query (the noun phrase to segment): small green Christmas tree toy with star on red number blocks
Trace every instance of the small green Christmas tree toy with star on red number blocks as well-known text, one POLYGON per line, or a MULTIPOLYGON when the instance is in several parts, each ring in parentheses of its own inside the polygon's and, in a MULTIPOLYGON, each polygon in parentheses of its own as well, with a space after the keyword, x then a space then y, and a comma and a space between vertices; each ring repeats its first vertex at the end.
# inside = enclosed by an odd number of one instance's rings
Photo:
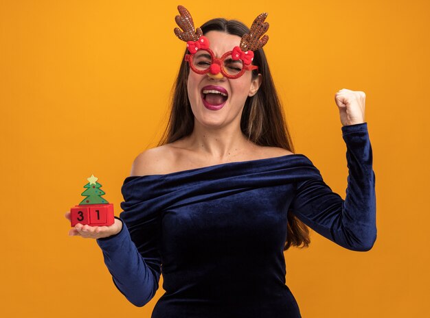
POLYGON ((85 191, 81 195, 85 197, 78 206, 70 209, 70 223, 75 226, 78 223, 90 226, 112 225, 113 204, 110 204, 102 197, 104 191, 100 189, 102 184, 98 183, 98 178, 91 175, 87 178, 88 183, 84 185, 85 191))

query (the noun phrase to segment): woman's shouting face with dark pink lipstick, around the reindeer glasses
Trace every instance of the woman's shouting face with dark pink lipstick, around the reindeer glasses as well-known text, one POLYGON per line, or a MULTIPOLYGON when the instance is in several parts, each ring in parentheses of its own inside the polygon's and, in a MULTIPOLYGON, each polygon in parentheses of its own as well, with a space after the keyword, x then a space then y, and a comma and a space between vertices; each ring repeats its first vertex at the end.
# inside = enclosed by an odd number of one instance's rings
MULTIPOLYGON (((240 36, 225 32, 210 31, 205 37, 217 58, 240 45, 240 36)), ((207 74, 194 73, 190 69, 187 88, 195 120, 206 127, 223 127, 230 123, 240 125, 245 101, 248 96, 257 93, 260 82, 261 75, 252 79, 251 71, 245 71, 237 79, 214 79, 207 74)))

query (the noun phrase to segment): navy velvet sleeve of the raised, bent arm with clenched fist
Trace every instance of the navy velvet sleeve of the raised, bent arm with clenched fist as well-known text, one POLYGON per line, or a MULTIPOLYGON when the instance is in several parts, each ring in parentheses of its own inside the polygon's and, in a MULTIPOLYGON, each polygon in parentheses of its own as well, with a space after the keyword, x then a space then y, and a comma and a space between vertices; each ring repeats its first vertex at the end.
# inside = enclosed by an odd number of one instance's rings
POLYGON ((319 178, 297 182, 292 212, 310 228, 354 251, 368 251, 376 241, 375 174, 367 123, 342 128, 346 143, 346 198, 319 178))

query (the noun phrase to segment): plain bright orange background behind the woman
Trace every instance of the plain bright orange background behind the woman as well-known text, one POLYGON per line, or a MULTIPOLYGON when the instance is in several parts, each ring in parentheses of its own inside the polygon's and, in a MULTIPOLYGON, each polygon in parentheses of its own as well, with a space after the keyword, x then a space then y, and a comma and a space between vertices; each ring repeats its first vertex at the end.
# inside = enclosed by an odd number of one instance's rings
MULTIPOLYGON (((7 317, 149 317, 95 241, 63 214, 98 176, 120 213, 139 152, 155 147, 185 43, 177 1, 1 1, 0 308, 7 317)), ((303 317, 425 317, 429 308, 429 1, 185 1, 196 25, 269 12, 264 48, 297 153, 345 195, 334 96, 367 94, 378 238, 352 252, 312 232, 285 253, 303 317)), ((161 282, 162 284, 162 279, 161 282)), ((5 316, 5 317, 6 317, 5 316)))

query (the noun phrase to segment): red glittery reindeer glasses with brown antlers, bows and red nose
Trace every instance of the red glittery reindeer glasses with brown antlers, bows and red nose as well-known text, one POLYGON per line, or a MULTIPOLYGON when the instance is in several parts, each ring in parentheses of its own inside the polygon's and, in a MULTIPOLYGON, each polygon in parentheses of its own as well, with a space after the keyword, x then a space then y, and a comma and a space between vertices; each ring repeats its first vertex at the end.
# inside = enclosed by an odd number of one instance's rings
POLYGON ((235 79, 242 76, 245 71, 258 69, 258 66, 252 65, 254 53, 263 47, 269 36, 264 35, 269 29, 269 23, 264 22, 267 13, 262 13, 253 21, 249 34, 242 36, 240 46, 234 47, 233 51, 228 51, 220 58, 216 58, 214 52, 209 48, 209 40, 203 36, 200 27, 194 29, 194 23, 190 12, 182 5, 178 6, 179 13, 175 17, 177 25, 181 27, 174 28, 174 34, 187 42, 190 54, 185 55, 185 61, 188 62, 192 71, 197 74, 207 74, 213 78, 227 77, 235 79))

